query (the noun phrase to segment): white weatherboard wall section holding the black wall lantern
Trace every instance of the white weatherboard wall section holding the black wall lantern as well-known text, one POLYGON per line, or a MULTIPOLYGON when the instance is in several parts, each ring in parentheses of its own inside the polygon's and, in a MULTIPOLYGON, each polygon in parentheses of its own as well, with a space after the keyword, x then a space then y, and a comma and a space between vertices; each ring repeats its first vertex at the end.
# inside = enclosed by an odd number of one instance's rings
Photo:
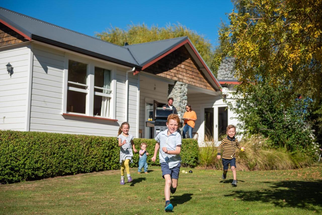
POLYGON ((26 130, 30 48, 0 49, 0 129, 26 130), (10 77, 6 64, 14 67, 10 77))

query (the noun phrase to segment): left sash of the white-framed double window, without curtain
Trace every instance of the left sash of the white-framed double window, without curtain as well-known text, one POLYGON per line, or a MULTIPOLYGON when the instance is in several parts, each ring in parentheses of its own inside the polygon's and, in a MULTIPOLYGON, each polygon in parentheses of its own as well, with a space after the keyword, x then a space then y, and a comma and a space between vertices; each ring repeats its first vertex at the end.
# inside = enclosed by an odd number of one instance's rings
POLYGON ((87 64, 68 62, 67 112, 86 113, 87 64))

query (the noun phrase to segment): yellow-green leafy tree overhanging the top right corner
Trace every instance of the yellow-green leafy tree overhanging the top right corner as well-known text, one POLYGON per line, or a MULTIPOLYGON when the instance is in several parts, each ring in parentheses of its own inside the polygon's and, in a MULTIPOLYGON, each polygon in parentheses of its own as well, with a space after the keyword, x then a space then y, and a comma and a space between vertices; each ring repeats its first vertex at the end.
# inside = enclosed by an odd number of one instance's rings
POLYGON ((236 0, 238 13, 220 30, 222 53, 214 55, 218 67, 224 57, 236 58, 233 73, 241 82, 237 91, 252 93, 256 80, 275 89, 290 85, 281 101, 295 92, 322 98, 322 0, 236 0), (227 42, 228 41, 228 42, 227 42))

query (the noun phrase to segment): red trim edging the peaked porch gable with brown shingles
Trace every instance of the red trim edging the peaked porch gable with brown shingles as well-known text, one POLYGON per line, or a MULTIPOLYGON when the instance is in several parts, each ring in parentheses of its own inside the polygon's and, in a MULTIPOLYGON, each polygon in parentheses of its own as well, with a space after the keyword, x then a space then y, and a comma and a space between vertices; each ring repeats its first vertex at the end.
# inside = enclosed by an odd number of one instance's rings
MULTIPOLYGON (((144 70, 145 68, 147 68, 148 66, 156 63, 158 60, 162 59, 163 57, 165 57, 166 55, 170 54, 171 52, 175 51, 176 49, 180 48, 181 46, 183 46, 184 44, 189 44, 191 49, 194 51, 194 53, 196 54, 196 56, 198 57, 199 61, 203 64, 204 68, 207 70, 208 74, 210 75, 210 77, 213 79, 213 81, 216 83, 217 87, 219 88, 220 91, 222 91, 220 84, 218 83, 218 81, 213 77, 213 73, 208 69, 207 65, 204 63, 204 61, 202 60, 201 56, 198 54, 197 50, 194 49, 194 46, 190 43, 190 41, 188 39, 186 39, 185 41, 181 42, 180 44, 176 45, 175 47, 173 47, 172 49, 170 49, 169 51, 167 51, 166 53, 160 55, 159 57, 155 58, 154 60, 150 61, 149 63, 145 64, 144 66, 142 66, 141 70, 144 70)), ((139 71, 135 71, 133 74, 137 74, 139 71)))

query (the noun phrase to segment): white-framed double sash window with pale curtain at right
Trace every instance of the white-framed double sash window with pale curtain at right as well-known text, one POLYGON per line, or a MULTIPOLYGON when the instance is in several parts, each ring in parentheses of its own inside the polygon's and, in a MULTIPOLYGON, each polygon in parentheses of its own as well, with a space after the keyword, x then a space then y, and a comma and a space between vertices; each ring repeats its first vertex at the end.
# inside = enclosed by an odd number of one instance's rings
POLYGON ((69 60, 66 112, 111 117, 111 79, 110 70, 100 67, 94 68, 89 64, 69 60), (90 68, 93 68, 94 71, 89 71, 90 68), (93 83, 89 81, 92 78, 94 78, 94 85, 90 85, 93 83), (89 111, 90 109, 93 110, 92 113, 89 111))

